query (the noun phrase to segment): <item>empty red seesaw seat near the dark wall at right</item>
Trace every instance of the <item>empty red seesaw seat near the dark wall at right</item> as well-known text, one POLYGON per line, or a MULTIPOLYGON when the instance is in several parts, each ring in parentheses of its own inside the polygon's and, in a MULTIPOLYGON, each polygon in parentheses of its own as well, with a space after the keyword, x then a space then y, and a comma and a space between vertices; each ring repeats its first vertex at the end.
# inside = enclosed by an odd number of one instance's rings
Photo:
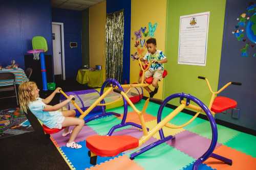
POLYGON ((211 111, 214 111, 215 113, 220 113, 227 109, 237 107, 237 104, 238 103, 232 99, 218 96, 217 98, 215 98, 214 103, 212 103, 211 111))

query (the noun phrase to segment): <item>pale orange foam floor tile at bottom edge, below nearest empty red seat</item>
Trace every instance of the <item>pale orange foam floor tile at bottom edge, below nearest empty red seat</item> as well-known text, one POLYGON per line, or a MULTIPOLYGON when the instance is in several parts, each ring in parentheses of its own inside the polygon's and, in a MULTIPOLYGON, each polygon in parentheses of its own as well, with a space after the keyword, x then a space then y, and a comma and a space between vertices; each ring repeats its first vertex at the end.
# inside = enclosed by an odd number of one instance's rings
MULTIPOLYGON (((87 168, 88 169, 88 168, 87 168)), ((142 170, 140 165, 131 160, 127 155, 119 156, 110 161, 103 162, 99 165, 92 166, 90 170, 142 170)))

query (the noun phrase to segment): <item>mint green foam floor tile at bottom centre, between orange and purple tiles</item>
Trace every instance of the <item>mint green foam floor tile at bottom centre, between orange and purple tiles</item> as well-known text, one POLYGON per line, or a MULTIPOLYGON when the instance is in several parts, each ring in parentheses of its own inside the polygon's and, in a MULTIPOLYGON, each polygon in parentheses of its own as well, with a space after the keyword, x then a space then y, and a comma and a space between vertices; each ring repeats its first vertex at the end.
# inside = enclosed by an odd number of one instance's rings
POLYGON ((157 147, 137 156, 134 161, 147 170, 172 169, 178 170, 195 161, 192 157, 162 143, 157 147))

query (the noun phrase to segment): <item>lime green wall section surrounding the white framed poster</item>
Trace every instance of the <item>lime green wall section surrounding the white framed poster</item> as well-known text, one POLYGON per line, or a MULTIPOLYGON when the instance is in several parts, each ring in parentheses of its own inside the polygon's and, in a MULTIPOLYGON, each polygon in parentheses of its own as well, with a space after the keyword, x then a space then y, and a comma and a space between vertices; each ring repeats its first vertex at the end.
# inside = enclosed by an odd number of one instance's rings
MULTIPOLYGON (((178 92, 190 93, 209 104, 210 92, 204 80, 208 78, 212 90, 217 90, 220 71, 222 35, 225 15, 225 0, 168 0, 165 54, 168 62, 165 69, 168 75, 164 79, 164 98, 178 92), (206 66, 178 64, 180 16, 201 12, 210 12, 206 66)), ((178 100, 170 102, 179 105, 178 100)))

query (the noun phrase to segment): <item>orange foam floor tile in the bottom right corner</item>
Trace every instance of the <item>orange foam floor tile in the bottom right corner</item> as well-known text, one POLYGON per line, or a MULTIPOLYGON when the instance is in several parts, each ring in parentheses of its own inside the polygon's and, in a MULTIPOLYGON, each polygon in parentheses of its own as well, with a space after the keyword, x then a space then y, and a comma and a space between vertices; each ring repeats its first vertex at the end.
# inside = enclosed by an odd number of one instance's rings
MULTIPOLYGON (((241 143, 243 144, 243 143, 241 143)), ((229 148, 226 145, 222 145, 214 151, 215 154, 224 156, 232 160, 232 165, 223 163, 220 160, 209 158, 204 163, 212 168, 225 169, 225 170, 255 170, 256 169, 256 158, 250 155, 246 155, 240 151, 229 148)))

